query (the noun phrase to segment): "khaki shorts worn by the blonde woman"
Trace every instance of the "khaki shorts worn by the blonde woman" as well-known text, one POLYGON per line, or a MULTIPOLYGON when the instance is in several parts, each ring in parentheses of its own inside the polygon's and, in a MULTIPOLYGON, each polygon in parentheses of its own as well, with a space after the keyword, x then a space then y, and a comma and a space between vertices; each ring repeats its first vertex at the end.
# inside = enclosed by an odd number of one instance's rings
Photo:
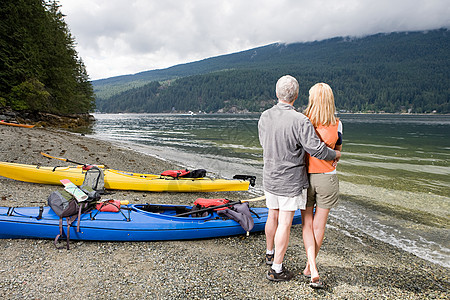
POLYGON ((339 180, 336 174, 308 174, 309 188, 307 207, 316 205, 331 209, 337 205, 339 180))

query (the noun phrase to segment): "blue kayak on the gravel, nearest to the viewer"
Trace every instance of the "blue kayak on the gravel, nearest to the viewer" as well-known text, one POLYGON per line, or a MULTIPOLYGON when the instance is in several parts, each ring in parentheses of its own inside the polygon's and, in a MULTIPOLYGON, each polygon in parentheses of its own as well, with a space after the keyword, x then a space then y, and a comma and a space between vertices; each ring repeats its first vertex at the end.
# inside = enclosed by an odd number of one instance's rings
MULTIPOLYGON (((216 212, 205 217, 176 215, 190 211, 192 206, 128 204, 119 212, 93 210, 70 226, 71 240, 85 241, 164 241, 215 238, 245 234, 240 224, 223 219, 216 212)), ((254 227, 251 232, 264 231, 267 208, 252 208, 254 227)), ((59 217, 49 207, 0 207, 0 238, 54 239, 59 234, 59 217)), ((301 223, 296 211, 293 224, 301 223)), ((63 221, 67 234, 67 223, 63 221)))

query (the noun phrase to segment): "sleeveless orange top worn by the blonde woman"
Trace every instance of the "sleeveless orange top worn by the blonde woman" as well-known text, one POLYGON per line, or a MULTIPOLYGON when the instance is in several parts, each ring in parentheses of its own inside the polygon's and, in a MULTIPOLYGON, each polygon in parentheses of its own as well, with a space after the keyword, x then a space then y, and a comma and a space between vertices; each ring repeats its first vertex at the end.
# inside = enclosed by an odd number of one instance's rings
MULTIPOLYGON (((339 120, 336 120, 336 125, 323 126, 319 125, 316 133, 319 138, 331 149, 334 149, 338 140, 338 126, 339 120)), ((328 173, 334 171, 336 168, 332 166, 334 160, 321 160, 307 155, 308 173, 328 173)))

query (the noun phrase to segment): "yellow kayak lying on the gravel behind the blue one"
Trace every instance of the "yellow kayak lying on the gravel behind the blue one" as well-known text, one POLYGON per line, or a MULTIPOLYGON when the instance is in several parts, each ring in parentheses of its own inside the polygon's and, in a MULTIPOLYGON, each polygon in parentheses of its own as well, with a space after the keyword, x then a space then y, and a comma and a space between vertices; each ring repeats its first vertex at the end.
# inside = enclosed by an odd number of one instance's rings
MULTIPOLYGON (((172 178, 155 174, 139 174, 103 168, 105 188, 149 192, 224 192, 246 191, 250 182, 240 179, 172 178)), ((41 184, 60 185, 69 179, 76 185, 83 183, 86 171, 82 166, 41 167, 0 162, 0 176, 41 184)))

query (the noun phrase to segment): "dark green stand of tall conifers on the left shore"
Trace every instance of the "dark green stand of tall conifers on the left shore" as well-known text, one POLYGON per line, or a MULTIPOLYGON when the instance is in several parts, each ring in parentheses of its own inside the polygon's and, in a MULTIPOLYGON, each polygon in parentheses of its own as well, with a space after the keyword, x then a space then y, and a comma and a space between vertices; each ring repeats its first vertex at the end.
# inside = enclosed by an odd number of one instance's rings
POLYGON ((87 113, 92 84, 57 1, 0 2, 0 108, 87 113))

